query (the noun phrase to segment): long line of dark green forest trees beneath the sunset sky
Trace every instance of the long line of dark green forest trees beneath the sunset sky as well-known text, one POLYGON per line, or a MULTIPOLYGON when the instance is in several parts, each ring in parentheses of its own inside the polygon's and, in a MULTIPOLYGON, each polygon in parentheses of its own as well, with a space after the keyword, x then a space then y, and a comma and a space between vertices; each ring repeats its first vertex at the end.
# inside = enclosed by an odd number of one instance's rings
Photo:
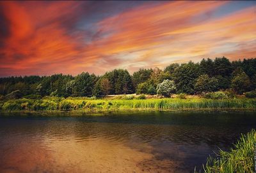
POLYGON ((104 75, 83 72, 77 76, 55 74, 51 76, 25 76, 0 78, 0 94, 13 92, 19 96, 106 96, 108 94, 200 94, 230 89, 237 94, 256 88, 256 58, 232 61, 226 57, 202 59, 200 63, 172 63, 164 70, 141 68, 132 75, 116 69, 104 75), (167 87, 166 87, 167 86, 167 87))

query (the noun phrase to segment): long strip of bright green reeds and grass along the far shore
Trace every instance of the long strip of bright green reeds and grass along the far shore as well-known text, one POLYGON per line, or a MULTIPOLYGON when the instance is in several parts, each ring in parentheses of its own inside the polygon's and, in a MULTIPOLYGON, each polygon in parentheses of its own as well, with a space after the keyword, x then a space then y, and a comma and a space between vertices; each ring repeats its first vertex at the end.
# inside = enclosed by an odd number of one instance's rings
POLYGON ((1 110, 256 110, 256 99, 151 98, 145 100, 45 97, 0 103, 1 110))

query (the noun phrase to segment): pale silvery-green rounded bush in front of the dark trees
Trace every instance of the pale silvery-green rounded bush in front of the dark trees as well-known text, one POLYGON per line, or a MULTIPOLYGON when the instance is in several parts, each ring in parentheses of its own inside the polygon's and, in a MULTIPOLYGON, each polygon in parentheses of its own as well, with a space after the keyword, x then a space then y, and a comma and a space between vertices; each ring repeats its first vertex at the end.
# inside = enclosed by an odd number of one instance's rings
POLYGON ((170 94, 176 92, 176 86, 173 80, 164 80, 161 84, 157 85, 157 94, 169 97, 170 94))

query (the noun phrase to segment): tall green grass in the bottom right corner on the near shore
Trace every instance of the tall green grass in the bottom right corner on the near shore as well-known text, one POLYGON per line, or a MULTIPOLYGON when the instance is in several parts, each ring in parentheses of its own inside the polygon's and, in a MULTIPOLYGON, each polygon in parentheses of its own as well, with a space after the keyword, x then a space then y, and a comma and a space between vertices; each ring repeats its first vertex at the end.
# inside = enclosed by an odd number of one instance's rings
POLYGON ((252 130, 235 144, 234 149, 229 152, 220 151, 218 158, 209 157, 202 172, 252 172, 254 170, 254 144, 256 143, 256 132, 252 130))

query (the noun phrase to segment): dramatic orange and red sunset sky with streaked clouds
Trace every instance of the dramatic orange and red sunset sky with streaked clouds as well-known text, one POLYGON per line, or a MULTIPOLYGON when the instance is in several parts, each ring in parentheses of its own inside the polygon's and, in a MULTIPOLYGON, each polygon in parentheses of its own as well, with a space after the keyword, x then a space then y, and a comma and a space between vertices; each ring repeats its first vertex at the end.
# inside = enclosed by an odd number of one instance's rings
POLYGON ((256 1, 1 1, 0 77, 256 57, 256 1))

